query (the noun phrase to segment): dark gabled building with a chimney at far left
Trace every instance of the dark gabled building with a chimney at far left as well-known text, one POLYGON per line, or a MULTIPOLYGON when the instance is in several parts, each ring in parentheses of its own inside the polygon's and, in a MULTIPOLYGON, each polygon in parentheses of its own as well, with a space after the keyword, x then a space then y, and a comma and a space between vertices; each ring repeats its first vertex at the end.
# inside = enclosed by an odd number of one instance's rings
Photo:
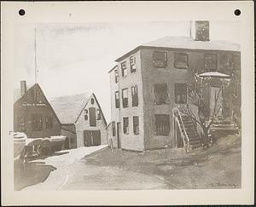
POLYGON ((20 82, 20 98, 14 104, 14 131, 30 138, 61 135, 61 123, 38 83, 26 89, 20 82))

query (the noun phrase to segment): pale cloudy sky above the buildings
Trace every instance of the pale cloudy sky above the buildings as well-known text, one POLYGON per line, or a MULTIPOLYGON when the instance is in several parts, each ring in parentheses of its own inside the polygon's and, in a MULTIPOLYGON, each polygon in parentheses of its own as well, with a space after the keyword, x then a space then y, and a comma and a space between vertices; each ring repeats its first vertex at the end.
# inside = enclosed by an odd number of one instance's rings
MULTIPOLYGON (((49 100, 93 92, 109 122, 108 71, 115 66, 114 60, 160 37, 189 37, 189 25, 189 21, 17 25, 15 88, 20 88, 20 80, 28 86, 35 83, 36 63, 37 83, 49 100)), ((240 43, 239 22, 210 21, 210 39, 240 43)))

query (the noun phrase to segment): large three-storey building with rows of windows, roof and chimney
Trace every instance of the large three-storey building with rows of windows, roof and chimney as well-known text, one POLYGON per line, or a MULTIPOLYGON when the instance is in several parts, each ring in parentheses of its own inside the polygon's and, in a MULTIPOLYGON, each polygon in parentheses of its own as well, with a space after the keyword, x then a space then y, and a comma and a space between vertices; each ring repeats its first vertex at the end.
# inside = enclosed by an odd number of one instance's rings
POLYGON ((231 117, 235 108, 240 110, 239 45, 210 41, 206 21, 195 22, 193 28, 194 37, 163 37, 116 60, 109 71, 113 147, 135 151, 177 147, 172 110, 188 103, 193 73, 230 75, 224 113, 231 117))

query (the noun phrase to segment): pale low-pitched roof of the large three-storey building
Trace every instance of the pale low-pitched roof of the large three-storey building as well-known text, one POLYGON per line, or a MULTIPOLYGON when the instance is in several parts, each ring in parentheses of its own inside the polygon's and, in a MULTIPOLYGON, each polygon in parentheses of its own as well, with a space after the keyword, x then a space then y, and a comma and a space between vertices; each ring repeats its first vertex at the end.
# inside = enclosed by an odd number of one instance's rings
POLYGON ((222 40, 195 41, 191 37, 162 37, 152 42, 143 43, 136 49, 122 55, 115 61, 123 60, 125 57, 135 53, 138 49, 147 48, 169 48, 169 49, 191 49, 191 50, 221 50, 221 51, 240 51, 240 45, 222 40))

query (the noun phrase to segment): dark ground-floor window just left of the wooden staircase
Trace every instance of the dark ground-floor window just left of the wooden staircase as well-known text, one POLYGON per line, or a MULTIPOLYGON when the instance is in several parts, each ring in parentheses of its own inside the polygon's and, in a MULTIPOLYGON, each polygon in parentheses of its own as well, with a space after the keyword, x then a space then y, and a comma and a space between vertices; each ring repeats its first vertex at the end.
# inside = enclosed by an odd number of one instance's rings
POLYGON ((155 114, 155 135, 169 135, 170 118, 166 114, 155 114))

